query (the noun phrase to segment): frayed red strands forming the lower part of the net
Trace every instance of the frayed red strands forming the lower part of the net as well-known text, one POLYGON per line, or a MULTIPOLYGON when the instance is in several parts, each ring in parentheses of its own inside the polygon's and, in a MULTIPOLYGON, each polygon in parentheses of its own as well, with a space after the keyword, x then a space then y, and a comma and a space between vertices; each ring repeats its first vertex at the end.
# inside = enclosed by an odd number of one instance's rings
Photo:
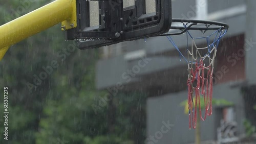
POLYGON ((188 87, 188 109, 189 109, 189 129, 191 129, 191 123, 193 128, 196 128, 197 125, 197 105, 199 105, 199 114, 201 120, 204 121, 206 116, 212 114, 212 73, 214 68, 209 65, 204 66, 203 59, 198 63, 196 61, 195 69, 190 67, 189 77, 187 80, 188 87), (207 75, 204 75, 204 71, 207 70, 207 75), (196 86, 193 86, 193 83, 196 82, 196 86), (200 92, 201 91, 201 92, 200 92), (195 94, 195 98, 193 98, 195 94), (204 108, 205 114, 202 117, 201 105, 200 105, 200 95, 204 99, 204 108), (195 100, 194 100, 195 99, 195 100), (191 122, 192 120, 192 122, 191 122))

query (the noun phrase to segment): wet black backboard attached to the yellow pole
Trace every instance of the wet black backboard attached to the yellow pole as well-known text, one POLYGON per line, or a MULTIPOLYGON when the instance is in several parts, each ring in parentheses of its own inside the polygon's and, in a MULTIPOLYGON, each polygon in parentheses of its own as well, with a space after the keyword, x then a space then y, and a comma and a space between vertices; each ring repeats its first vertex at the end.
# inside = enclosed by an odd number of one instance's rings
POLYGON ((79 49, 163 34, 172 23, 169 0, 77 0, 76 3, 77 27, 67 30, 66 36, 68 40, 78 40, 79 49))

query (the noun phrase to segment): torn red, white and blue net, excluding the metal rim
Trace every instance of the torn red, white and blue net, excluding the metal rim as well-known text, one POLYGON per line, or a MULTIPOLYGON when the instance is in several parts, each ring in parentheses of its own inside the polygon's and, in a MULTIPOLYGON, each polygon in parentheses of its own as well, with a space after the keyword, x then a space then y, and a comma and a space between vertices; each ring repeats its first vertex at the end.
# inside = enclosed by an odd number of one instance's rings
MULTIPOLYGON (((183 23, 186 29, 186 24, 183 23)), ((206 26, 207 27, 207 26, 206 26)), ((172 37, 167 36, 168 40, 175 46, 180 54, 180 58, 184 58, 188 65, 188 78, 187 78, 187 88, 188 88, 188 101, 187 108, 189 114, 189 129, 191 129, 191 123, 193 128, 197 125, 197 110, 199 109, 200 117, 202 121, 206 119, 206 116, 212 114, 212 73, 214 71, 214 61, 216 57, 217 47, 219 45, 220 39, 225 35, 227 30, 222 30, 222 28, 216 30, 214 33, 206 37, 193 37, 186 30, 187 39, 187 58, 181 53, 178 46, 175 44, 172 37), (214 40, 210 42, 210 37, 214 40), (191 38, 191 48, 188 49, 188 39, 191 38), (198 47, 196 45, 196 39, 206 39, 206 47, 198 47), (204 53, 202 55, 201 53, 204 53), (201 96, 200 96, 201 95, 201 96), (203 97, 205 115, 202 117, 200 97, 203 97), (199 108, 197 108, 199 105, 199 108), (191 122, 192 120, 192 122, 191 122)), ((203 32, 205 33, 205 31, 203 32)))

